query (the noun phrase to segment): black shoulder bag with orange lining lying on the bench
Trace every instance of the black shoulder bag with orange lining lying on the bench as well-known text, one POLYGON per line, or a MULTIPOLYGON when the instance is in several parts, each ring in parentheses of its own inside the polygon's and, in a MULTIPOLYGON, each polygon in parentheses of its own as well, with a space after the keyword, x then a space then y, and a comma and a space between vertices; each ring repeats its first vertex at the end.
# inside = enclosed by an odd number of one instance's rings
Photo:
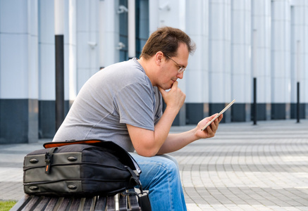
MULTIPOLYGON (((139 165, 112 141, 48 142, 43 146, 25 156, 23 186, 29 195, 112 196, 135 186, 144 193, 139 165)), ((144 201, 143 196, 139 199, 144 201)))

